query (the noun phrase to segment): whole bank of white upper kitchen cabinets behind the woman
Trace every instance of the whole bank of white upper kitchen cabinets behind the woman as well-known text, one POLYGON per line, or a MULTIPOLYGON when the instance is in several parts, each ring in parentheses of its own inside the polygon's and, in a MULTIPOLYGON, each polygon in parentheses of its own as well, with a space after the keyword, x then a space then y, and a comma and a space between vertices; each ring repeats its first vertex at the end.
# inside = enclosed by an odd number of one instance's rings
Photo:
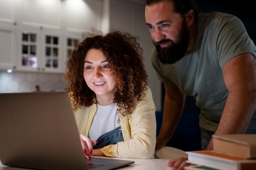
POLYGON ((100 1, 0 1, 0 69, 65 73, 83 31, 100 28, 100 1))

